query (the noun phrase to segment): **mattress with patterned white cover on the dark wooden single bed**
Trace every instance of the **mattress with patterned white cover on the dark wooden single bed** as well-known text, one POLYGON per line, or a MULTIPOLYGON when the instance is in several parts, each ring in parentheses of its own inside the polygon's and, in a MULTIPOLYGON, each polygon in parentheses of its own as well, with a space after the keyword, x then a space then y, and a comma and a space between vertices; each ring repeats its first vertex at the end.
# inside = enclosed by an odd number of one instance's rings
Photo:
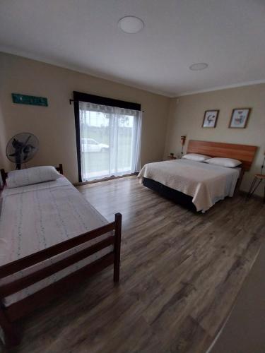
MULTIPOLYGON (((4 189, 1 196, 0 214, 0 266, 106 224, 107 220, 65 177, 41 184, 4 189)), ((54 256, 52 259, 5 277, 0 280, 0 284, 21 278, 32 273, 33 270, 44 268, 65 258, 69 253, 85 249, 109 235, 110 233, 103 234, 63 254, 54 256)), ((6 297, 4 304, 9 306, 28 297, 111 251, 113 251, 112 245, 45 280, 6 297)))

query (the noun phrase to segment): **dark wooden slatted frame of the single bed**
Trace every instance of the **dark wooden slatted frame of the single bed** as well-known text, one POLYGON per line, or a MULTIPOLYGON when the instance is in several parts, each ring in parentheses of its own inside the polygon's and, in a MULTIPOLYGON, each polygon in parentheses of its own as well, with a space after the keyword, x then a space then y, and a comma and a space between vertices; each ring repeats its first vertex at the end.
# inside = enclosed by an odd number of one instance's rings
MULTIPOLYGON (((62 174, 62 164, 59 164, 57 170, 62 174)), ((4 169, 1 169, 1 176, 5 182, 7 174, 4 169)), ((50 246, 47 249, 38 251, 37 253, 25 256, 24 258, 20 258, 0 267, 0 278, 3 278, 17 273, 20 270, 24 270, 25 268, 29 268, 30 266, 40 263, 41 261, 52 258, 59 253, 64 253, 64 251, 73 249, 75 246, 86 243, 86 241, 89 241, 90 239, 100 237, 102 234, 111 232, 112 230, 114 230, 114 235, 110 235, 110 237, 99 241, 93 246, 78 251, 77 253, 70 254, 68 257, 57 261, 52 265, 48 265, 45 268, 36 270, 34 273, 26 275, 19 280, 14 280, 13 282, 0 286, 0 326, 4 331, 6 345, 11 347, 20 343, 20 333, 16 327, 16 321, 18 319, 26 316, 28 313, 36 308, 39 308, 40 306, 45 306, 52 299, 61 296, 61 293, 73 289, 79 282, 82 282, 84 278, 88 278, 95 273, 100 272, 104 268, 107 268, 107 266, 114 265, 113 280, 115 283, 119 282, 122 215, 120 213, 116 213, 114 222, 110 222, 107 225, 93 229, 90 232, 80 234, 66 241, 62 241, 59 244, 50 246), (31 294, 29 297, 16 301, 16 303, 11 304, 10 306, 4 305, 3 299, 5 297, 8 297, 21 289, 33 285, 35 282, 49 277, 69 265, 73 265, 73 263, 81 261, 83 258, 86 258, 93 253, 110 246, 111 244, 114 244, 114 250, 111 253, 107 253, 107 255, 102 258, 89 263, 66 277, 63 277, 61 280, 54 282, 52 285, 40 289, 38 292, 31 294)))

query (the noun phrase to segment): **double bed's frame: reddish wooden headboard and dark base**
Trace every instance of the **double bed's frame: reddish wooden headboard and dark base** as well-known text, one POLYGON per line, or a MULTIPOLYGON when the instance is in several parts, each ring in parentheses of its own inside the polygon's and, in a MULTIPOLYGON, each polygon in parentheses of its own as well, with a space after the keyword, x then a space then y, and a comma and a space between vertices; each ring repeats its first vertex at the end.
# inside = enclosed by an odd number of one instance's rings
MULTIPOLYGON (((254 160, 257 146, 236 145, 234 143, 220 143, 199 140, 189 140, 187 153, 199 153, 210 157, 234 158, 242 162, 240 177, 237 181, 235 191, 238 191, 245 172, 249 171, 254 160)), ((192 196, 171 189, 168 186, 160 184, 153 179, 143 178, 143 185, 149 189, 160 193, 161 196, 169 198, 175 203, 196 212, 196 207, 192 203, 192 196)))

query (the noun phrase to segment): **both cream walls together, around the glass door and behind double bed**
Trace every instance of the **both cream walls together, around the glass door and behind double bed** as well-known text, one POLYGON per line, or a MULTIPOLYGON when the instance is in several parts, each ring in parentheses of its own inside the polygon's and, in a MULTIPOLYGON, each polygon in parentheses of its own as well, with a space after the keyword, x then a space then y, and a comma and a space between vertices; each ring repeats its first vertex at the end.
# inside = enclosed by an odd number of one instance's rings
POLYGON ((78 181, 74 114, 69 104, 73 90, 77 90, 141 104, 145 111, 142 164, 162 160, 169 152, 179 154, 180 136, 187 135, 187 140, 257 145, 259 150, 251 171, 245 175, 243 190, 248 190, 253 174, 260 172, 265 150, 265 84, 170 99, 4 53, 0 53, 0 78, 0 167, 11 168, 5 157, 8 139, 30 131, 40 139, 40 151, 28 165, 62 162, 66 177, 78 181), (47 97, 49 107, 13 104, 12 92, 47 97), (245 129, 228 128, 232 109, 237 107, 252 108, 245 129), (207 109, 220 109, 216 128, 201 128, 207 109))

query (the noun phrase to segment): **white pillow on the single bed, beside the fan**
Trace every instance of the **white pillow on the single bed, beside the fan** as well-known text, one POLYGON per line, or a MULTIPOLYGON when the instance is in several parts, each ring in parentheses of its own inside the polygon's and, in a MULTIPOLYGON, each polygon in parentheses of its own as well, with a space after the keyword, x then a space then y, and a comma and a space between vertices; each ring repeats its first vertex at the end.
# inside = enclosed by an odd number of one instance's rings
POLYGON ((33 167, 27 169, 13 170, 8 172, 6 186, 8 188, 18 188, 31 184, 43 183, 45 181, 56 180, 61 176, 52 166, 33 167))

